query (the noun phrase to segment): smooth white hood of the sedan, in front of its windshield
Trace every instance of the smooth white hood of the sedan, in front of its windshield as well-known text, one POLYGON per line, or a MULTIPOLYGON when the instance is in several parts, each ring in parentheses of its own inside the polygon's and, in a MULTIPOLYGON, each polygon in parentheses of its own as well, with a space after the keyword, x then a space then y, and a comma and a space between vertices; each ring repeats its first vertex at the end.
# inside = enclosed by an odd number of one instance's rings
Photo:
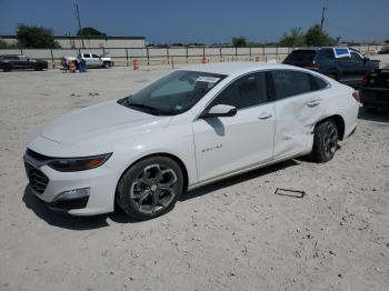
POLYGON ((164 128, 170 120, 171 117, 157 117, 108 101, 54 120, 42 129, 41 137, 64 144, 109 144, 164 128))

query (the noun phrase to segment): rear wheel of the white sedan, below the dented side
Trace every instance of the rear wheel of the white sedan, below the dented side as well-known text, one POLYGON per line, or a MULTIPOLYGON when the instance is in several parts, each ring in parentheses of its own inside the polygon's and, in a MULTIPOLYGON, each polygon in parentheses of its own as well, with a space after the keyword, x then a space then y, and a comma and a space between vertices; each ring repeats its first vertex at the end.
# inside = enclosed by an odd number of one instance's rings
POLYGON ((315 128, 313 147, 310 159, 316 162, 328 162, 338 149, 339 130, 329 119, 315 128))

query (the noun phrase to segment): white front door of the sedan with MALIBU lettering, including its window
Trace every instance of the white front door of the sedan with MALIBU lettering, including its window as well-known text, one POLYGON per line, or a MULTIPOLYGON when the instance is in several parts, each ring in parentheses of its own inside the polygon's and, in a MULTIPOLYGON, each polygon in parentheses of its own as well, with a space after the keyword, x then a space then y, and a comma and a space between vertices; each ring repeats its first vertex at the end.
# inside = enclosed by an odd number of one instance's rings
POLYGON ((193 122, 199 181, 206 181, 272 159, 275 103, 268 100, 267 73, 241 77, 207 107, 233 106, 235 117, 193 122))

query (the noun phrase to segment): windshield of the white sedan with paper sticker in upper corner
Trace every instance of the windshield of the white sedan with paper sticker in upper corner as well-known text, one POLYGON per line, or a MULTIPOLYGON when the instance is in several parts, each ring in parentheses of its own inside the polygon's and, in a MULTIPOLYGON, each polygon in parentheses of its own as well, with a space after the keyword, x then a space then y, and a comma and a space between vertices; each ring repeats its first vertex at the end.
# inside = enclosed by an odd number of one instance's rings
POLYGON ((192 108, 225 78, 217 73, 176 71, 119 103, 154 116, 176 116, 192 108))

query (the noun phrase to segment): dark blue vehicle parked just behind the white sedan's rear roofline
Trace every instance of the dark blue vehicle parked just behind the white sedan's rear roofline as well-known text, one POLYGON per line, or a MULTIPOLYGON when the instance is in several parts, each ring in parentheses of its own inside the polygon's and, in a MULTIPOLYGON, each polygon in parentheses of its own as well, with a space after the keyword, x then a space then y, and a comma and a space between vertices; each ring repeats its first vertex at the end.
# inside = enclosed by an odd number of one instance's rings
POLYGON ((365 76, 379 68, 379 61, 370 60, 356 50, 341 48, 347 53, 336 56, 337 49, 339 48, 293 50, 283 63, 315 70, 353 87, 359 87, 365 76))

